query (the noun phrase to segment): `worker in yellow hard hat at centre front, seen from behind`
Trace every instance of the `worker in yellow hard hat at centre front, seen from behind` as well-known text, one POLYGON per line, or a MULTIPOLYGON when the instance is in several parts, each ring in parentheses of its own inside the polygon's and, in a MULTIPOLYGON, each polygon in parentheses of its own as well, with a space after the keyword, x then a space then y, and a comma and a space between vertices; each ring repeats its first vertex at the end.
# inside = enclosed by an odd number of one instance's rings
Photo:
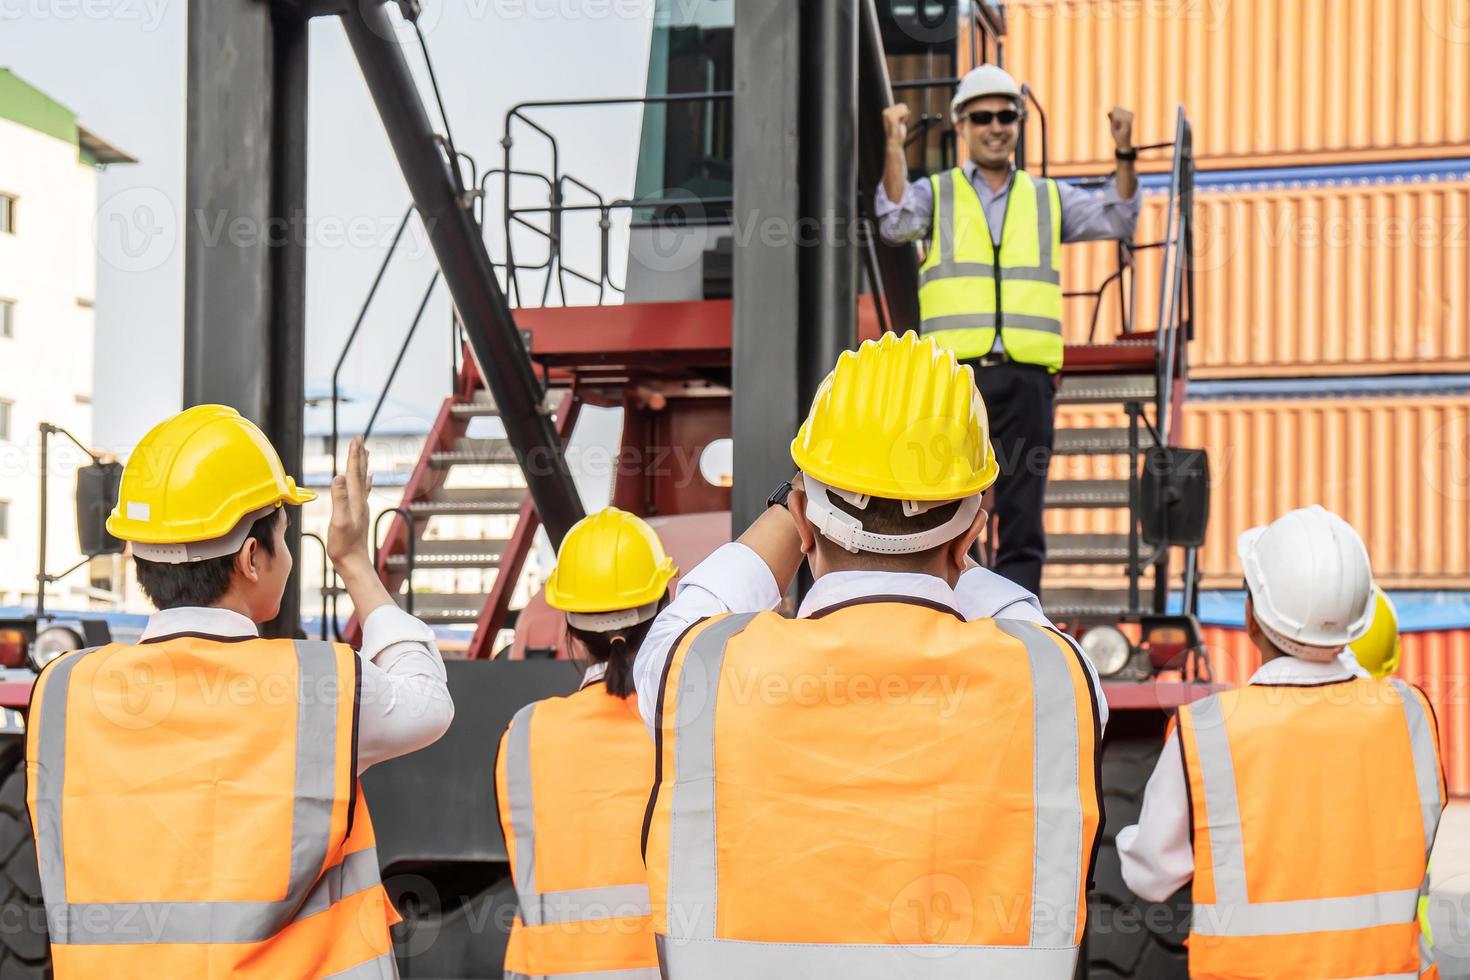
POLYGON ((911 332, 844 353, 791 458, 634 669, 664 976, 1070 979, 1104 708, 967 558, 997 476, 970 367, 911 332))

